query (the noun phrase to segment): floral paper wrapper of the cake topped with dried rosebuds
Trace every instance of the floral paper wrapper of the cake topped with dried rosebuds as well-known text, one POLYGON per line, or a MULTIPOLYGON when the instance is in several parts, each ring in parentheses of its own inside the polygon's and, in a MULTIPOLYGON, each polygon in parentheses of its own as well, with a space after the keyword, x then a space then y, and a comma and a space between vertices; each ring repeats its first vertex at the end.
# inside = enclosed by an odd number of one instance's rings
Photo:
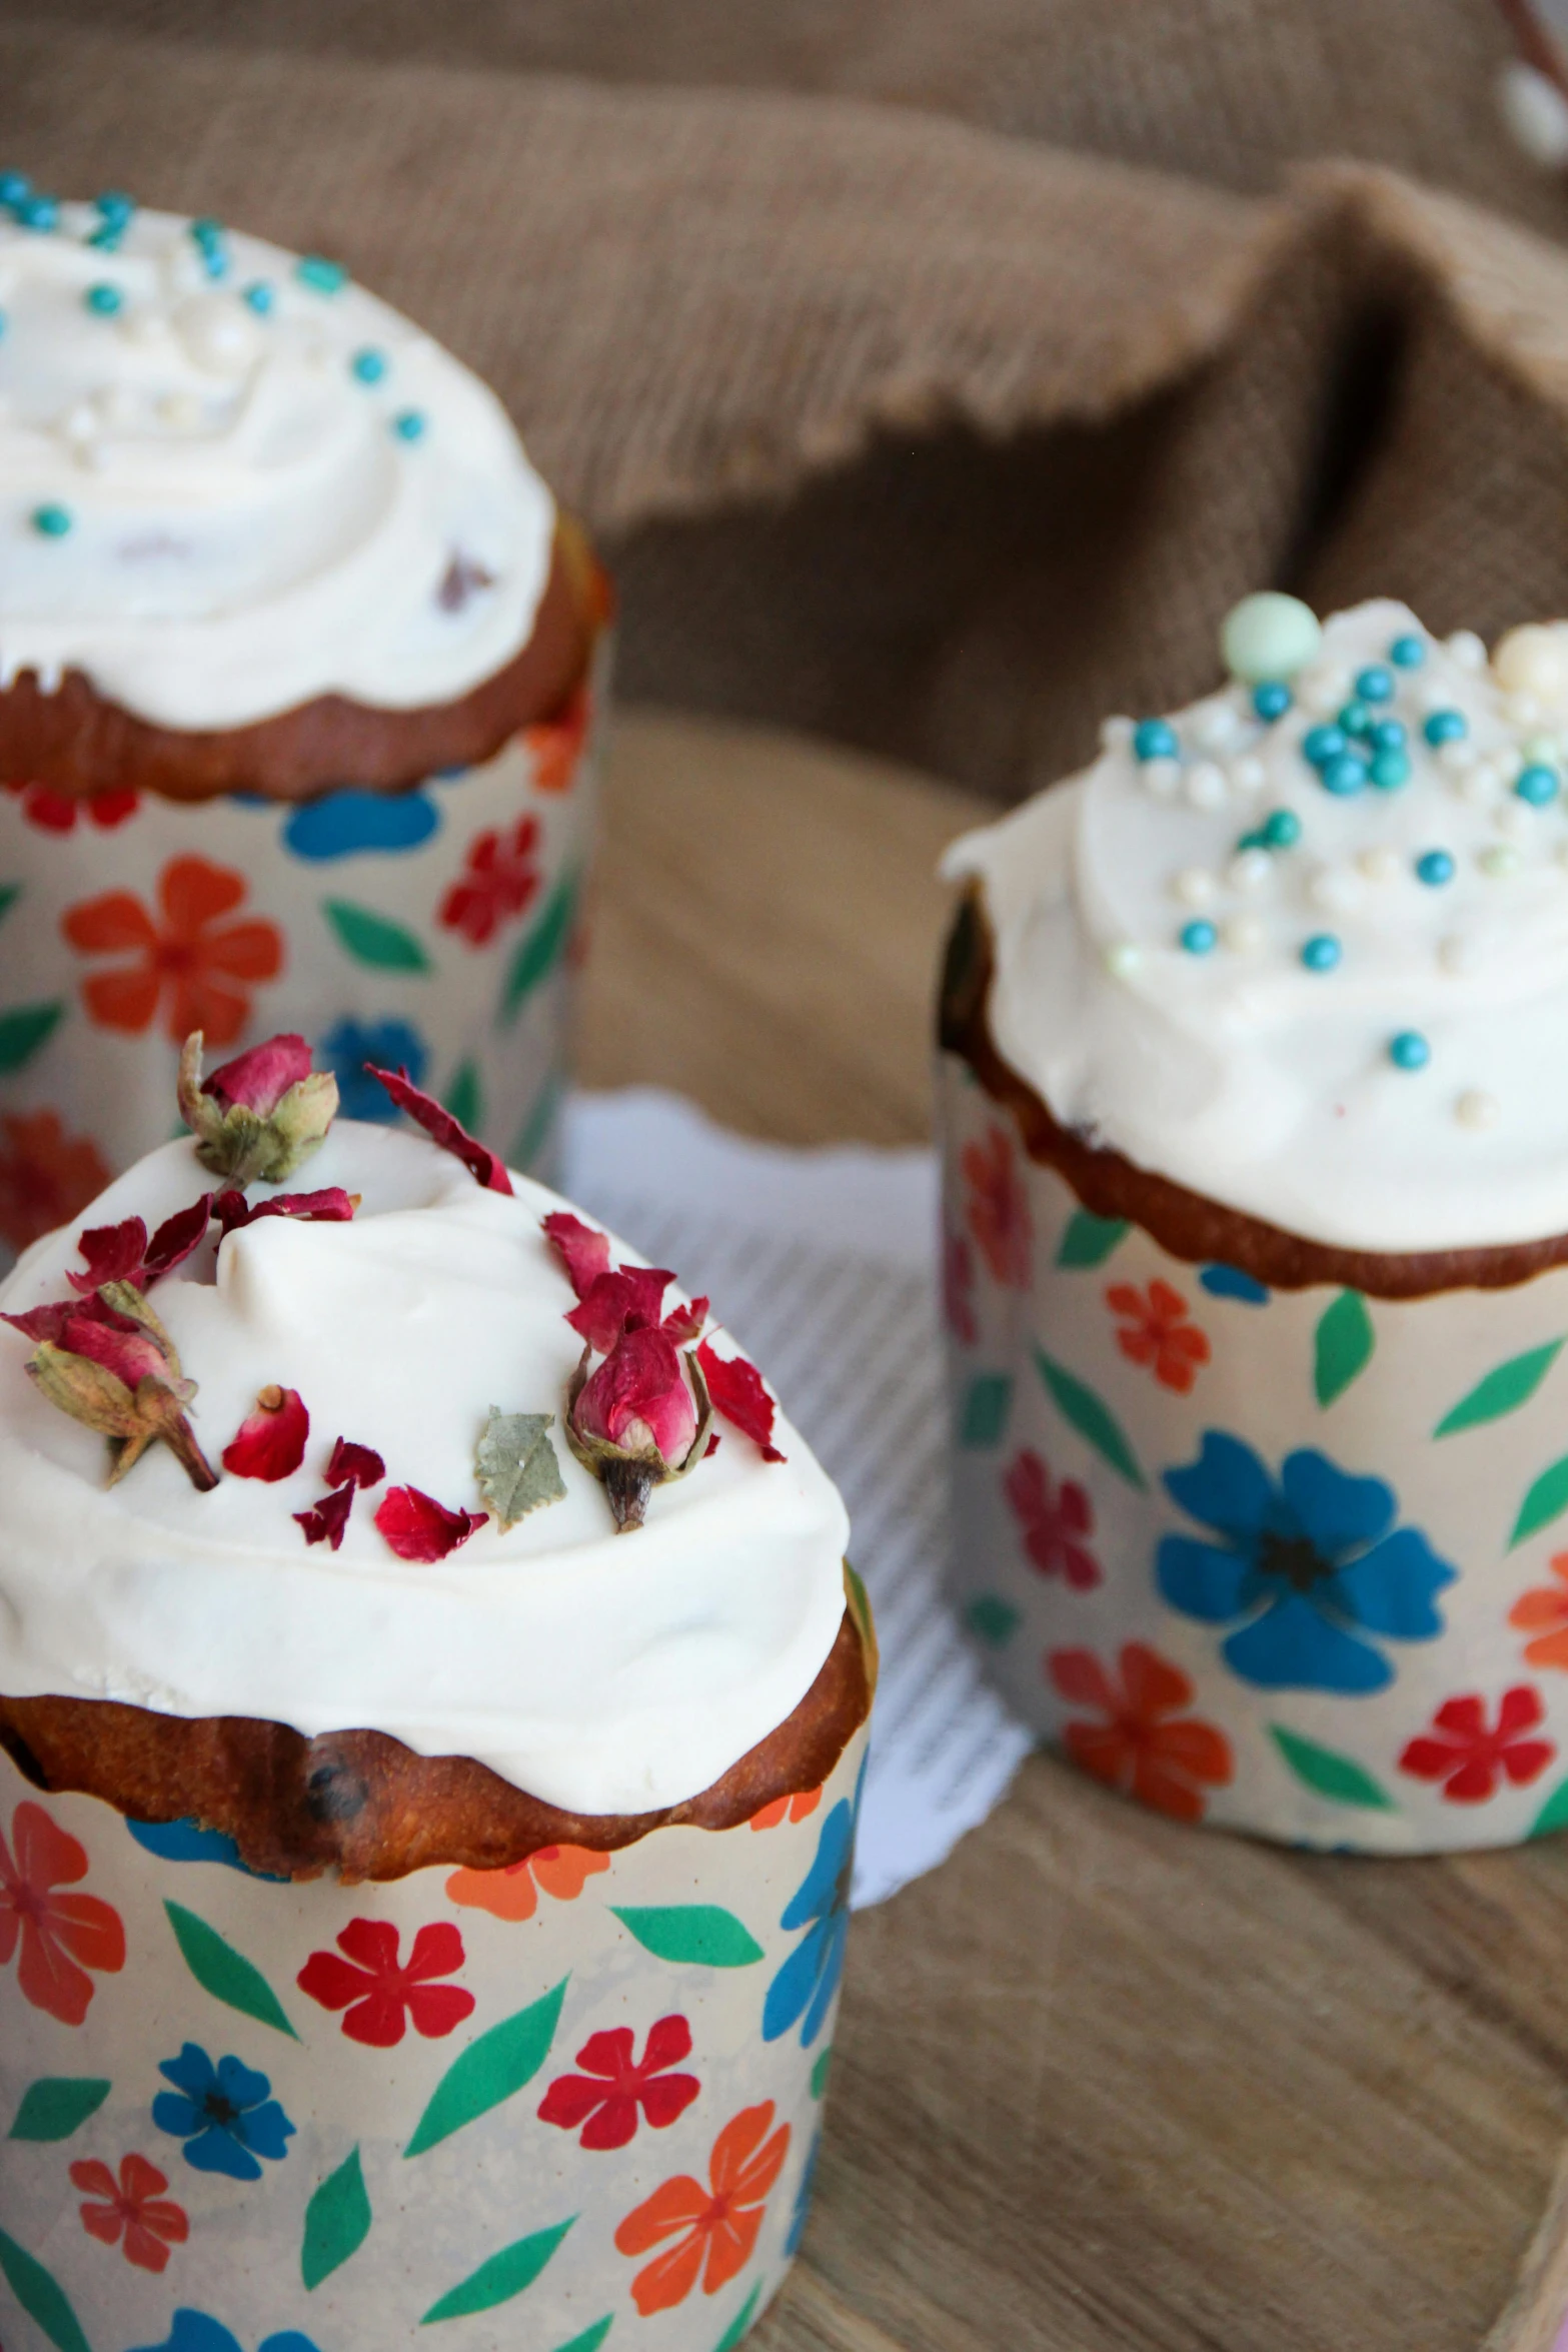
POLYGON ((736 1830, 341 1886, 0 1757, 7 2347, 736 2345, 806 2218, 863 1759, 860 1729, 736 1830), (374 1955, 355 1922, 423 1990, 327 2006, 343 1931, 374 1955), (621 2129, 611 2034, 644 2070, 621 2129), (226 2093, 237 2126, 202 2143, 226 2093))

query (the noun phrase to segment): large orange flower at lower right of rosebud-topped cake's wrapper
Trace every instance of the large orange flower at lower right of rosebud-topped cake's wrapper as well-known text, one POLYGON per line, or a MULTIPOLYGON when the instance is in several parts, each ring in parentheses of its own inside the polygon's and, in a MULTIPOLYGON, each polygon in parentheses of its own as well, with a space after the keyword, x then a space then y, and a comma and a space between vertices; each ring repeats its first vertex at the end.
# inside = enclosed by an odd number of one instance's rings
POLYGON ((684 2303, 698 2274, 703 2293, 717 2296, 750 2263, 769 2190, 790 2152, 790 2126, 780 2124, 769 2140, 771 2122, 771 2098, 743 2107, 712 2143, 708 2187, 679 2173, 616 2230, 616 2246, 632 2256, 675 2239, 632 2279, 632 2303, 644 2319, 684 2303))

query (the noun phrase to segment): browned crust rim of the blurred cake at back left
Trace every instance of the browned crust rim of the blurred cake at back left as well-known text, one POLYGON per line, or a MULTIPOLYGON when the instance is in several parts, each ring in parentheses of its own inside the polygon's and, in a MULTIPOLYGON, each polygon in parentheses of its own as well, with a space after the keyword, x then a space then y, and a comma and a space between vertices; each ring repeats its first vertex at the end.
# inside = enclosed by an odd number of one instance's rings
POLYGON ((310 800, 343 783, 400 793, 442 767, 477 767, 520 727, 552 717, 583 682, 607 614, 604 574, 581 529, 562 515, 534 635, 461 701, 376 710, 322 694, 252 727, 179 729, 103 701, 80 670, 68 670, 54 694, 42 694, 24 670, 0 691, 0 776, 45 783, 73 800, 92 793, 310 800))

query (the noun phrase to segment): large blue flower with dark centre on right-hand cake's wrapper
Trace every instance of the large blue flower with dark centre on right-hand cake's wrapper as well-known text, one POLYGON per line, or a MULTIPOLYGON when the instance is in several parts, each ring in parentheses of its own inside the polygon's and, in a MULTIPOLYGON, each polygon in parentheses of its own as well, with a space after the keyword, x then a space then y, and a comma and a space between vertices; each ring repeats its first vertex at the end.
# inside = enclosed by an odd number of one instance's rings
POLYGON ((1382 1691, 1394 1668, 1366 1635, 1429 1642, 1436 1595, 1455 1581, 1378 1477, 1349 1477, 1324 1454, 1288 1454, 1279 1486, 1239 1437, 1204 1435, 1166 1489, 1218 1543, 1164 1536, 1154 1581, 1204 1625, 1246 1623, 1220 1653, 1265 1691, 1382 1691))

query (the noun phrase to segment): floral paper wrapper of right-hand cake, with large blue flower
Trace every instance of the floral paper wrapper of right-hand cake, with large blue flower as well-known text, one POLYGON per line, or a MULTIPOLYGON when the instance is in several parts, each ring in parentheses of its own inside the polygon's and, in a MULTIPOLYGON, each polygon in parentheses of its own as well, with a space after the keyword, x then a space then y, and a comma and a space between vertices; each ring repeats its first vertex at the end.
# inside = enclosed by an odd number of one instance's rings
POLYGON ((1568 1823, 1568 1270, 1265 1291, 1088 1216, 957 1056, 940 1124, 952 1595, 1018 1715, 1293 1844, 1568 1823))

